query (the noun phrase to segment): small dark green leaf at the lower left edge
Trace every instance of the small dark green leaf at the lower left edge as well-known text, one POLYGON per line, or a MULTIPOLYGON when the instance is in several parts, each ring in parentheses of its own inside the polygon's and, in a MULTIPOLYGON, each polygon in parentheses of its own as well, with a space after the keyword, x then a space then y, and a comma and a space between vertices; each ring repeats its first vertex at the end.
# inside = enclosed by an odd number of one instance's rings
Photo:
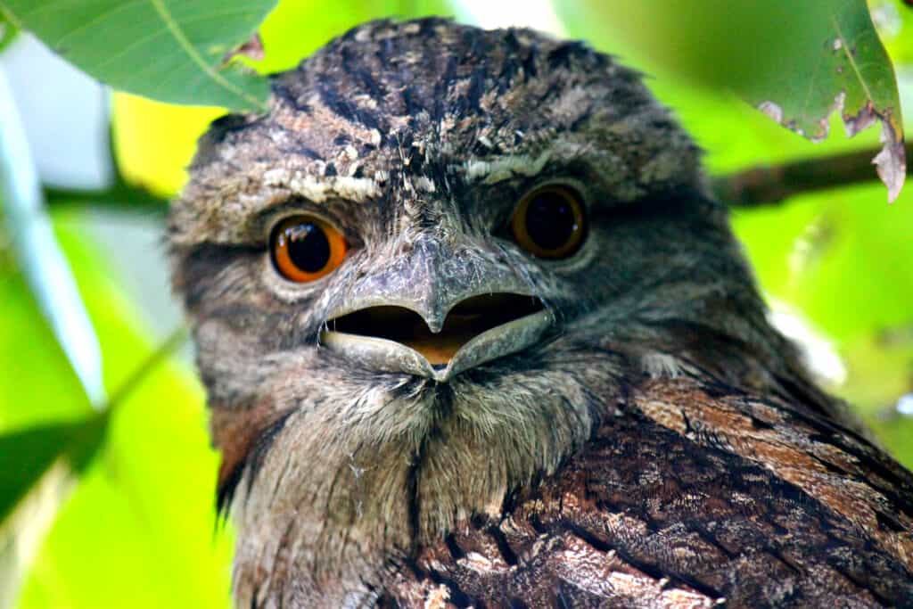
POLYGON ((107 415, 94 415, 75 423, 40 425, 0 436, 0 524, 61 460, 74 473, 89 465, 107 425, 107 415))

